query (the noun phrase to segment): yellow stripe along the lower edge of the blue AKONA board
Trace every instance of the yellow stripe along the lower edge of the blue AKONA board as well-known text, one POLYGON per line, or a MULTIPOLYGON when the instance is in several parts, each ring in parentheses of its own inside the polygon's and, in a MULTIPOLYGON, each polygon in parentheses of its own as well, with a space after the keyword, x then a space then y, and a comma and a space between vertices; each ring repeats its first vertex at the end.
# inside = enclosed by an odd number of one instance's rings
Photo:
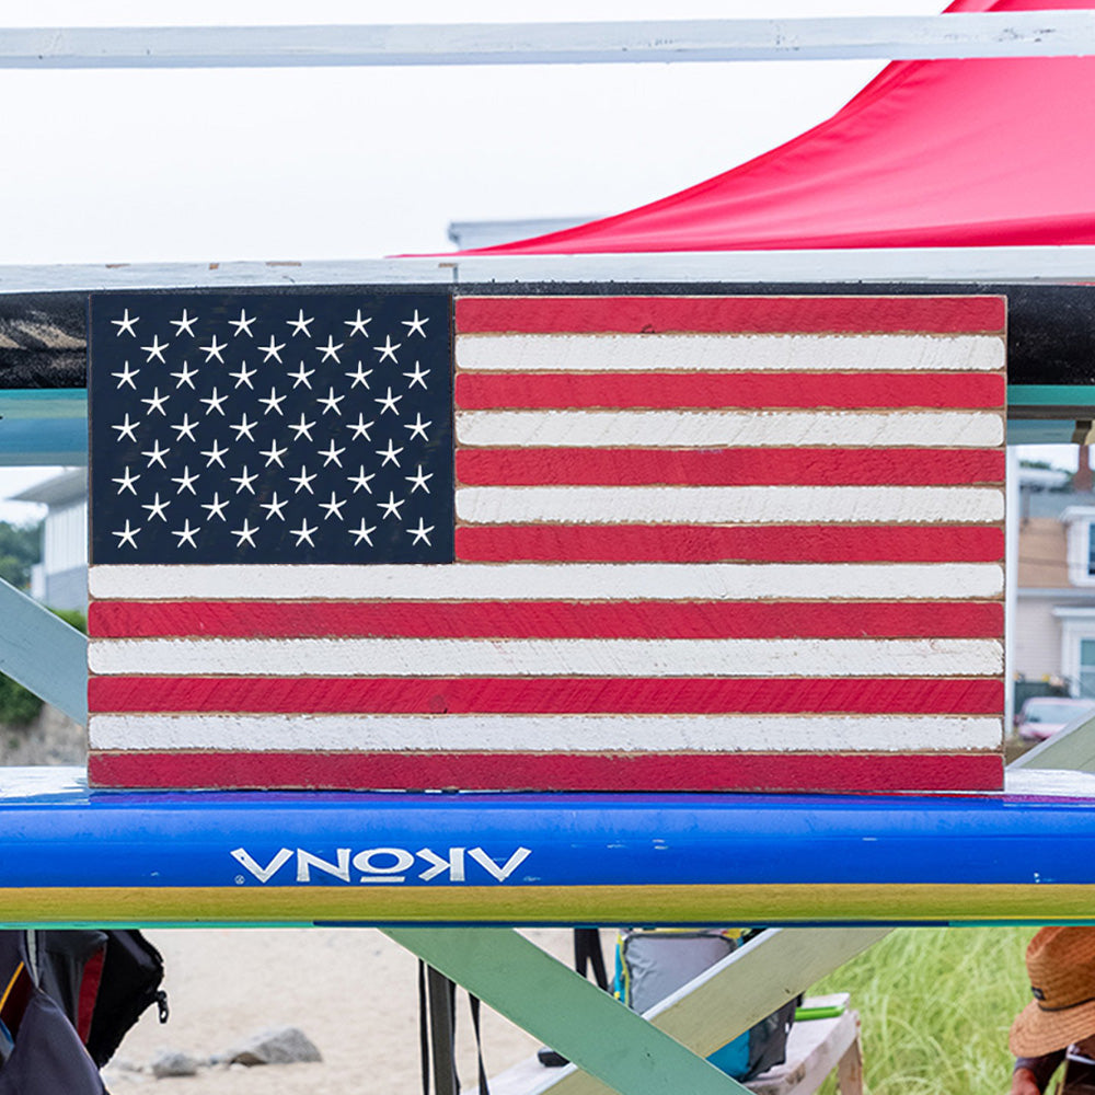
POLYGON ((1087 922, 1095 885, 0 889, 0 924, 1087 922))

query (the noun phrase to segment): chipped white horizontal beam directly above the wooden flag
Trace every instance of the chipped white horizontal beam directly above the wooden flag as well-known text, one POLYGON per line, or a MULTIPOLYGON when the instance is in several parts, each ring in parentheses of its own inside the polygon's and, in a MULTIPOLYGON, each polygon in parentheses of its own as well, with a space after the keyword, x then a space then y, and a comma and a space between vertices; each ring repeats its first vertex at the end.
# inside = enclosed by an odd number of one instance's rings
POLYGON ((1095 278, 1095 246, 437 255, 316 262, 0 266, 0 295, 460 283, 1045 281, 1095 278))

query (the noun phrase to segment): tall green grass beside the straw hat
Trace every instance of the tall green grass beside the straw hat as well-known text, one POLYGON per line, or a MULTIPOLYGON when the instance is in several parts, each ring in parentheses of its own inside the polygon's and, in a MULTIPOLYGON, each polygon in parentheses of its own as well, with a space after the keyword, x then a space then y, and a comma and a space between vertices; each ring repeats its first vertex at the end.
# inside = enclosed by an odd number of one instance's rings
MULTIPOLYGON (((1007 1030, 1030 999, 1034 927, 906 927, 810 992, 849 992, 869 1095, 992 1095, 1008 1088, 1007 1030)), ((832 1077, 822 1088, 835 1091, 832 1077)))

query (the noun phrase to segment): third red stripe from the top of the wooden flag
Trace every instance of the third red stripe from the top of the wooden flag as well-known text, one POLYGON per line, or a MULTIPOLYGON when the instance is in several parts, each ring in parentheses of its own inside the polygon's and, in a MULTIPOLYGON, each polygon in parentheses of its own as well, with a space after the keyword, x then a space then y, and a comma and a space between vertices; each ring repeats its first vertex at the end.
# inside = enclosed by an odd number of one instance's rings
POLYGON ((468 449, 468 486, 952 486, 1003 483, 1001 449, 468 449))

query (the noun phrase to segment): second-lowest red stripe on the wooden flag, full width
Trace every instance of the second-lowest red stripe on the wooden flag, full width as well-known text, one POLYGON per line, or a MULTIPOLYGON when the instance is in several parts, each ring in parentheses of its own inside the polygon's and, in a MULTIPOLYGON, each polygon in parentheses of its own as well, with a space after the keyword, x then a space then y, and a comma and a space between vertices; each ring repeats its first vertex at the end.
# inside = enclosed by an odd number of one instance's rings
POLYGON ((94 712, 999 715, 999 680, 920 678, 92 677, 94 712))

